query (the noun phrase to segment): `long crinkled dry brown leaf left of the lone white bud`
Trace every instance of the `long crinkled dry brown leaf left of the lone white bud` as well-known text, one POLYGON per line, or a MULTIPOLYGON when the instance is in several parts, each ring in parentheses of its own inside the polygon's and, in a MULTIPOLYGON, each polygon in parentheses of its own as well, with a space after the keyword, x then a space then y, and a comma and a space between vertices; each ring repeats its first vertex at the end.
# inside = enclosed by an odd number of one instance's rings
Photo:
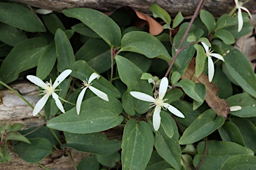
POLYGON ((207 90, 205 101, 207 104, 215 110, 218 116, 222 116, 227 119, 227 114, 230 113, 229 105, 226 100, 221 99, 217 96, 219 89, 213 82, 209 82, 209 78, 206 74, 202 73, 199 78, 195 77, 195 58, 191 60, 189 63, 189 67, 187 68, 185 74, 181 76, 182 79, 191 79, 196 83, 205 84, 205 88, 207 90))

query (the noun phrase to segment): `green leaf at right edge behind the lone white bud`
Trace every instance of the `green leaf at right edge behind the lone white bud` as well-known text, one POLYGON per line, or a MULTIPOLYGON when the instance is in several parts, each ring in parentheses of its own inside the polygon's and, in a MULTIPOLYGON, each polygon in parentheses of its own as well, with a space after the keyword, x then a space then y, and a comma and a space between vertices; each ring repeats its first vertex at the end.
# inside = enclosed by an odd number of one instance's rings
POLYGON ((255 117, 256 99, 251 97, 247 93, 236 94, 231 96, 227 100, 229 106, 241 106, 241 110, 231 112, 230 114, 240 117, 240 118, 250 118, 255 117))

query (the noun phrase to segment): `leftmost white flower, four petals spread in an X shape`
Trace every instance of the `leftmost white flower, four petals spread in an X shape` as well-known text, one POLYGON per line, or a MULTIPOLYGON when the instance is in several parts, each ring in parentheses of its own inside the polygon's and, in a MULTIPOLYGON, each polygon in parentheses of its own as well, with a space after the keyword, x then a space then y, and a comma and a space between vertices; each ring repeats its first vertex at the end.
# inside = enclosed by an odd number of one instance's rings
POLYGON ((57 88, 57 86, 59 86, 59 84, 61 84, 61 82, 63 82, 63 80, 65 80, 65 78, 67 78, 67 76, 69 76, 69 74, 71 74, 72 70, 65 70, 63 71, 61 74, 59 74, 59 76, 56 78, 55 82, 53 84, 51 84, 51 80, 50 82, 43 82, 40 78, 36 77, 36 76, 27 76, 27 79, 31 82, 33 82, 34 84, 36 84, 37 86, 43 88, 42 90, 42 94, 44 95, 43 98, 41 98, 37 104, 35 105, 35 108, 33 110, 33 116, 36 116, 42 109, 43 106, 45 106, 45 103, 47 102, 49 96, 53 96, 53 99, 55 100, 55 103, 57 105, 57 107, 59 108, 59 110, 61 110, 61 112, 65 113, 65 110, 61 104, 61 101, 59 100, 59 96, 55 93, 55 88, 57 88))

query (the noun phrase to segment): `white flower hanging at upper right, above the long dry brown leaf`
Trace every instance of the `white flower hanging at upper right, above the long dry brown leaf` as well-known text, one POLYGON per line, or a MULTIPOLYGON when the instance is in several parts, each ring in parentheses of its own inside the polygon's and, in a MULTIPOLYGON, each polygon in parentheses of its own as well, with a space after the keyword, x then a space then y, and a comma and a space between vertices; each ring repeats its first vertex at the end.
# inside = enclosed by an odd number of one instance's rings
POLYGON ((203 44, 203 48, 205 48, 205 55, 208 58, 208 77, 209 77, 209 82, 211 82, 213 80, 213 75, 214 75, 214 64, 211 57, 214 56, 215 58, 218 58, 219 60, 223 60, 223 61, 224 61, 224 58, 220 54, 212 53, 213 50, 211 50, 211 48, 209 49, 209 46, 207 46, 204 42, 201 42, 201 43, 203 44))

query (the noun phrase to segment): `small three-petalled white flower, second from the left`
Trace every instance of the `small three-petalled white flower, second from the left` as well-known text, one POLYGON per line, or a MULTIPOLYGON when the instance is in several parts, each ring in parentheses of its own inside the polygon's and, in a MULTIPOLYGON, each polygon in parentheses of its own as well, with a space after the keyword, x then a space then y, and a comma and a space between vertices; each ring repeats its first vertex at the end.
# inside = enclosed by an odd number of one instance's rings
POLYGON ((107 94, 105 94, 104 92, 101 92, 101 90, 98 90, 97 88, 94 88, 93 86, 91 86, 91 84, 92 84, 91 82, 95 78, 99 79, 100 76, 96 72, 93 72, 93 74, 91 74, 91 76, 89 77, 89 80, 86 80, 86 81, 83 80, 83 84, 82 84, 83 90, 80 92, 80 94, 77 98, 77 115, 80 114, 81 103, 83 101, 83 96, 85 96, 85 91, 87 90, 87 88, 89 88, 99 98, 102 98, 103 100, 109 101, 109 98, 107 97, 107 94))

